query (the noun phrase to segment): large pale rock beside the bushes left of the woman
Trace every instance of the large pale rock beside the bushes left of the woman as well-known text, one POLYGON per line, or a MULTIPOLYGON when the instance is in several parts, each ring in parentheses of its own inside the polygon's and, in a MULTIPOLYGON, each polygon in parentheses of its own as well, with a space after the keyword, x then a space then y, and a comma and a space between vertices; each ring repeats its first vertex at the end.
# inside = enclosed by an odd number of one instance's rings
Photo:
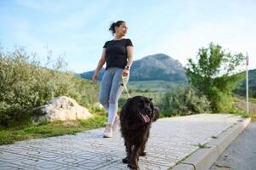
POLYGON ((50 100, 48 105, 38 107, 31 121, 33 124, 38 124, 45 121, 67 121, 88 119, 90 117, 93 117, 93 115, 88 112, 88 109, 78 105, 75 99, 61 96, 50 100))

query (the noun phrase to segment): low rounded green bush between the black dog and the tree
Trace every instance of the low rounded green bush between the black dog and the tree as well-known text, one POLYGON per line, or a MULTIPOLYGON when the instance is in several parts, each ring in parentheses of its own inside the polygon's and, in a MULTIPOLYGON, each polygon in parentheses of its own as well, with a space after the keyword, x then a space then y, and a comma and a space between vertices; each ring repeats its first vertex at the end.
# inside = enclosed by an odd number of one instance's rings
POLYGON ((162 97, 160 103, 162 116, 185 116, 208 112, 209 102, 205 96, 198 96, 193 88, 178 86, 162 97))

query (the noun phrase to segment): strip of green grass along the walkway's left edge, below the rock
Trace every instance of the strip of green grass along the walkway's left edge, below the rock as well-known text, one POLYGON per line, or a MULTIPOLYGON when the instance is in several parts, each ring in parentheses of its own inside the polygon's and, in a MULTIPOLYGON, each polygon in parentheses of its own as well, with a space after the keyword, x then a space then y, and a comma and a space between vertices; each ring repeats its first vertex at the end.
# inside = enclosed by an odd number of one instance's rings
POLYGON ((13 144, 26 139, 48 138, 64 134, 75 135, 89 129, 104 127, 106 120, 106 115, 95 115, 94 118, 85 121, 51 122, 37 126, 4 129, 0 131, 0 145, 13 144))

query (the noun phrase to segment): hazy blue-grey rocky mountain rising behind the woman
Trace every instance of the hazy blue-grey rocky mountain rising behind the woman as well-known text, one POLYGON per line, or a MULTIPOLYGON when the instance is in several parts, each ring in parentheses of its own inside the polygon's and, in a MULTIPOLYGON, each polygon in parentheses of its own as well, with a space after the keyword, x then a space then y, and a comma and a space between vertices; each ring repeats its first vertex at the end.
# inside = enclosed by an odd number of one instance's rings
MULTIPOLYGON (((104 69, 101 69, 99 80, 102 79, 104 69)), ((94 71, 77 74, 77 76, 91 80, 94 71)), ((153 54, 142 59, 134 60, 129 81, 167 81, 185 83, 185 69, 178 60, 166 54, 153 54)))

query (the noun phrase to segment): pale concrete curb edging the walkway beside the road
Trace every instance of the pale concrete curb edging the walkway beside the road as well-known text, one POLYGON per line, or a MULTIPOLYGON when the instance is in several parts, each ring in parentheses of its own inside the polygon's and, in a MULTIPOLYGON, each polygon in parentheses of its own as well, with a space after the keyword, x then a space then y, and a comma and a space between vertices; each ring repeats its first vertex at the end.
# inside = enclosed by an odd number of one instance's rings
POLYGON ((242 131, 251 122, 251 118, 242 119, 241 122, 235 123, 220 133, 218 139, 211 139, 207 148, 198 149, 191 156, 181 161, 173 167, 173 170, 206 170, 218 159, 221 153, 229 146, 229 144, 242 133, 242 131))

